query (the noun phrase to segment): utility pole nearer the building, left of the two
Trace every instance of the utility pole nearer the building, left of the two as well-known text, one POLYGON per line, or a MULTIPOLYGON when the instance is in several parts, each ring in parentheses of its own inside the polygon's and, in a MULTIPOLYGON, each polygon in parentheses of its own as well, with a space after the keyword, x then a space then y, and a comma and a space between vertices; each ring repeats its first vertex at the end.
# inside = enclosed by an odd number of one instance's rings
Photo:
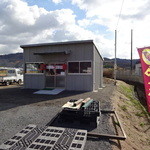
POLYGON ((116 85, 116 74, 117 74, 117 61, 116 61, 116 52, 117 52, 117 30, 115 30, 114 85, 116 85))

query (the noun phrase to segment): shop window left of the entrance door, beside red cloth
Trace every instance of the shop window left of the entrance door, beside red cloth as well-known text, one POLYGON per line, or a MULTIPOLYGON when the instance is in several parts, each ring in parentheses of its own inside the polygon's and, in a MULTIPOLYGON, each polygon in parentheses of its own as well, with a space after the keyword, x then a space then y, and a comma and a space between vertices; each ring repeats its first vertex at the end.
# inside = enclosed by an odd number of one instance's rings
POLYGON ((43 63, 26 63, 26 73, 43 73, 43 63))

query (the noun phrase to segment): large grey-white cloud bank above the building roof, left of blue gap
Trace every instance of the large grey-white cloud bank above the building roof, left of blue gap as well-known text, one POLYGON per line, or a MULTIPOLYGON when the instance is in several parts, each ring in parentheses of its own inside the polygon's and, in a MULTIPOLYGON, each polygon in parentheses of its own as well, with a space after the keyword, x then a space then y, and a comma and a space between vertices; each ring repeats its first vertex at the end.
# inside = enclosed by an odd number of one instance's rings
POLYGON ((95 39, 101 47, 109 41, 77 25, 70 9, 47 11, 21 0, 2 0, 0 8, 1 54, 22 51, 19 46, 29 43, 95 39))

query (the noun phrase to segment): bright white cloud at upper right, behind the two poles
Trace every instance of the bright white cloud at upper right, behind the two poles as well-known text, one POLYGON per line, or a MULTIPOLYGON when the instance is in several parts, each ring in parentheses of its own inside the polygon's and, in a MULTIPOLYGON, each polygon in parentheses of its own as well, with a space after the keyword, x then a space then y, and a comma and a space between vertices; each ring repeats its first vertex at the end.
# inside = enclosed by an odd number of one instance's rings
MULTIPOLYGON (((114 34, 122 1, 120 0, 72 0, 72 4, 86 11, 86 18, 78 21, 80 26, 89 24, 105 26, 114 34), (93 19, 94 18, 94 19, 93 19)), ((137 47, 150 46, 149 0, 125 0, 117 27, 117 57, 130 58, 131 29, 133 29, 134 58, 139 58, 137 47)), ((114 39, 111 40, 112 43, 114 39)), ((109 43, 105 43, 109 44, 109 43)), ((106 45, 103 45, 105 49, 106 45)), ((112 47, 113 50, 114 47, 112 47)))

